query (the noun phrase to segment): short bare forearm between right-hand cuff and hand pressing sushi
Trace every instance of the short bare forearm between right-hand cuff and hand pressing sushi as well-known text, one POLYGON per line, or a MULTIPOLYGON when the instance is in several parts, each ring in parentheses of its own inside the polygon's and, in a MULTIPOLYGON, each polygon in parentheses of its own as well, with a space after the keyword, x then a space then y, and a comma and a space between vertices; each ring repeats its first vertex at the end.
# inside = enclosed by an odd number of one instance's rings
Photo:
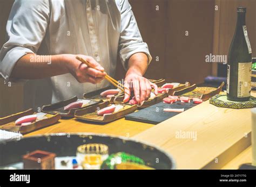
POLYGON ((128 62, 127 74, 136 73, 143 76, 147 70, 148 57, 145 53, 135 53, 133 54, 128 62))

